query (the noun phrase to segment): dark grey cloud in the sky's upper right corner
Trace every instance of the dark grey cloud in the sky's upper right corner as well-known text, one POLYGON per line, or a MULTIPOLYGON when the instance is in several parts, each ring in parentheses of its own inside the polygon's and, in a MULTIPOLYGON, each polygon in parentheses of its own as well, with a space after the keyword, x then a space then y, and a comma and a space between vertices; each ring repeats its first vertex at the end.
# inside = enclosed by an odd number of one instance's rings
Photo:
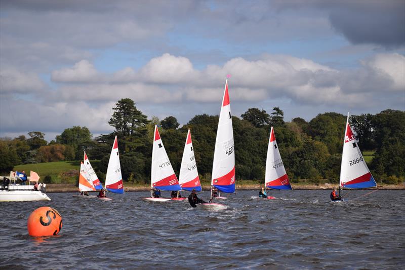
POLYGON ((405 45, 405 2, 385 1, 275 1, 280 12, 325 12, 330 25, 352 44, 385 48, 405 45))

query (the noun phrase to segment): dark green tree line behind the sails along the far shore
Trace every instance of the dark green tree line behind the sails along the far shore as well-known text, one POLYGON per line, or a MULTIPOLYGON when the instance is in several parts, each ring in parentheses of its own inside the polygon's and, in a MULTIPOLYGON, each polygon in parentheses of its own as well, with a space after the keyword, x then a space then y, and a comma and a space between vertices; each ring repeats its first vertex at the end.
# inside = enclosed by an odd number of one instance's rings
MULTIPOLYGON (((0 139, 0 171, 15 165, 37 162, 82 160, 86 150, 90 160, 100 160, 96 171, 104 179, 113 139, 118 136, 121 171, 125 181, 149 183, 154 125, 158 125, 169 159, 178 175, 187 130, 191 130, 198 173, 211 179, 218 115, 198 114, 180 127, 173 116, 150 120, 129 98, 119 100, 113 109, 110 134, 92 138, 87 127, 65 129, 47 142, 39 131, 28 138, 0 139)), ((351 115, 349 123, 362 151, 369 151, 369 162, 377 181, 399 183, 405 179, 405 112, 387 109, 377 114, 351 115)), ((308 179, 339 181, 346 116, 336 112, 319 113, 309 122, 294 118, 285 122, 284 112, 271 113, 249 108, 240 118, 232 116, 237 179, 264 179, 270 127, 274 127, 280 155, 292 182, 308 179)))

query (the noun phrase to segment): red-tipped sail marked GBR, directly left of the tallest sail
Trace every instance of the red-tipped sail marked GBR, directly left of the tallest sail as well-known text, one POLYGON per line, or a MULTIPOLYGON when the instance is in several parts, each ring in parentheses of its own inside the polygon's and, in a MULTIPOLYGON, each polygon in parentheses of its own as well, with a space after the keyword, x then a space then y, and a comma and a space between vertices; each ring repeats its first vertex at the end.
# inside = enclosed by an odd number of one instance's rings
POLYGON ((201 191, 201 183, 198 177, 197 164, 195 163, 194 148, 191 141, 191 133, 188 130, 184 145, 183 158, 181 160, 179 183, 182 189, 201 191))

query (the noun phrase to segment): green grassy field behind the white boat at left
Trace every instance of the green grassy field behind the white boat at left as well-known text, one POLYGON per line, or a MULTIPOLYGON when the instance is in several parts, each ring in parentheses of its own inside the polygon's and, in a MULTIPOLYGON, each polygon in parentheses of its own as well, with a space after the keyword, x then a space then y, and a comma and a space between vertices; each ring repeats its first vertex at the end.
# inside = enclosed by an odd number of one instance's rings
MULTIPOLYGON (((94 166, 97 162, 93 161, 92 165, 94 166)), ((52 183, 76 183, 79 169, 80 161, 59 161, 17 165, 13 171, 25 171, 29 176, 29 172, 32 170, 41 177, 41 181, 44 181, 45 177, 49 175, 52 183)))

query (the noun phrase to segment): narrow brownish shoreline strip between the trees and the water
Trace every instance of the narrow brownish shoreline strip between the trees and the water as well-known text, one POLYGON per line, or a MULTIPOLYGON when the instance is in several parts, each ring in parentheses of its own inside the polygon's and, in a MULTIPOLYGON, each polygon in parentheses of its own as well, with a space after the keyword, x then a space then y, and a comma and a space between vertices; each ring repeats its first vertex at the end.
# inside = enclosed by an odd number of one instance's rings
MULTIPOLYGON (((125 185, 125 183, 124 183, 125 185)), ((293 190, 330 190, 333 187, 338 187, 338 184, 292 184, 291 185, 293 190)), ((263 184, 251 184, 251 185, 236 185, 237 190, 259 190, 263 187, 263 184)), ((397 184, 397 185, 378 185, 377 188, 380 190, 405 190, 405 184, 397 184)), ((376 189, 376 188, 365 188, 365 189, 376 189)), ((203 190, 208 191, 210 190, 209 185, 203 185, 203 190)), ((275 190, 275 189, 272 189, 275 190)), ((124 191, 132 192, 132 191, 150 191, 149 186, 134 186, 130 185, 124 187, 124 191)), ((186 190, 185 190, 186 191, 186 190)), ((77 191, 77 184, 47 184, 47 193, 53 192, 78 192, 77 191)), ((95 191, 94 191, 95 192, 95 191)))

